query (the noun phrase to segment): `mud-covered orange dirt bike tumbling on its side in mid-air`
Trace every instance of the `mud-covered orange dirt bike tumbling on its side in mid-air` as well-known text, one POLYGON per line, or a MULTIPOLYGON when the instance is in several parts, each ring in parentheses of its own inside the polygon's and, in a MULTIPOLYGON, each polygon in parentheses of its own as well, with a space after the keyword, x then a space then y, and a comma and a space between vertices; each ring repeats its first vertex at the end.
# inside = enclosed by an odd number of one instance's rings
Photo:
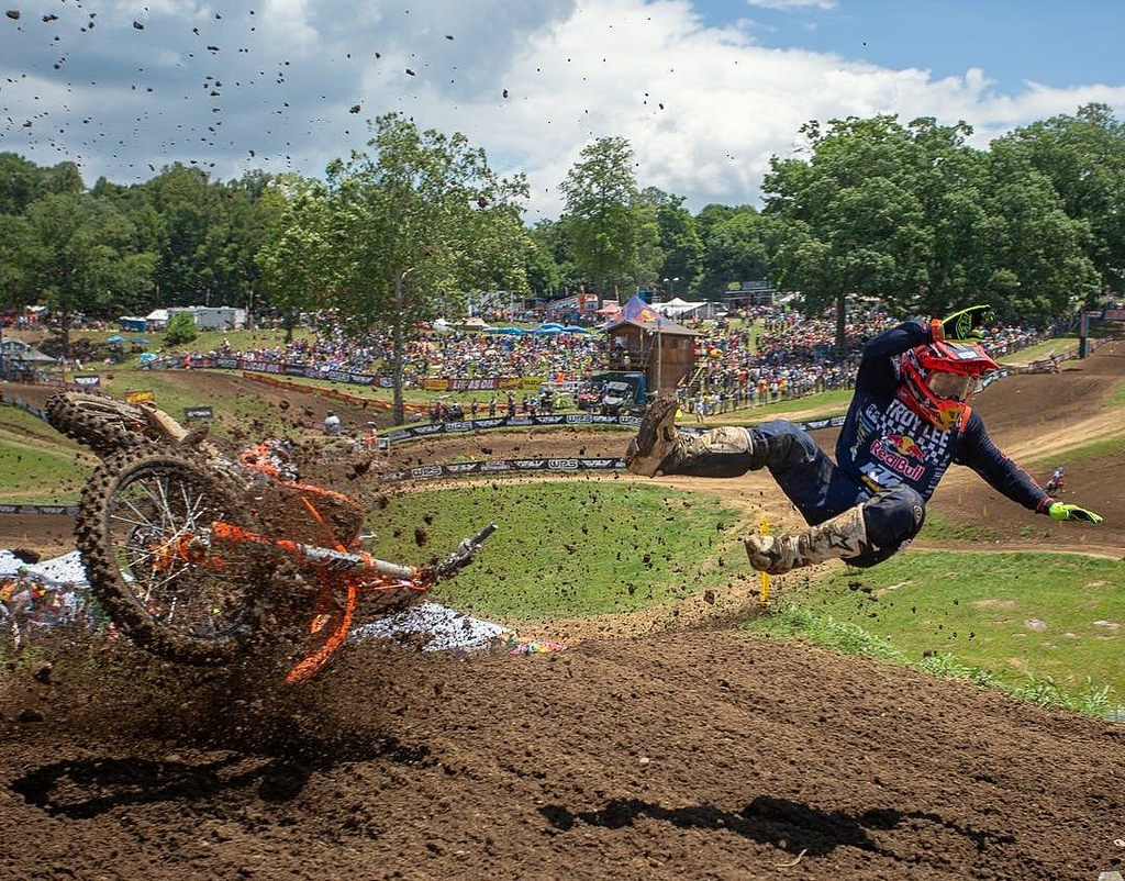
POLYGON ((134 642, 169 660, 223 664, 268 639, 268 585, 288 560, 317 587, 307 648, 287 675, 306 681, 346 641, 364 595, 380 614, 404 609, 467 566, 495 530, 433 565, 380 560, 361 545, 363 509, 292 479, 284 449, 255 444, 235 466, 144 410, 57 393, 47 416, 102 458, 75 518, 91 593, 134 642))

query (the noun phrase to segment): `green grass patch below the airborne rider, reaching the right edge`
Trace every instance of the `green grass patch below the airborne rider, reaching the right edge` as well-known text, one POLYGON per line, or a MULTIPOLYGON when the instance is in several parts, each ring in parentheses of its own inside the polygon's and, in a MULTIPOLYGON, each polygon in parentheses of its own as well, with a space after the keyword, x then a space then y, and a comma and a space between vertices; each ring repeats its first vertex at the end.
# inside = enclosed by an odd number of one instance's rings
POLYGON ((786 592, 749 628, 1105 714, 1125 703, 1123 576, 1077 555, 911 551, 786 592))

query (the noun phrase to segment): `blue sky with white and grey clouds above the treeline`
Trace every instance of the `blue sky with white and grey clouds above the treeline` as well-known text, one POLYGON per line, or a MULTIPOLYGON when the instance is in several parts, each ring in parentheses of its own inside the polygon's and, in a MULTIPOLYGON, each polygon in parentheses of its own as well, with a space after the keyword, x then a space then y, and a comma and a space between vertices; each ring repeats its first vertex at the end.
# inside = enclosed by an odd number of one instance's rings
POLYGON ((1125 2, 1040 0, 8 0, 0 151, 129 183, 323 174, 389 110, 462 132, 561 210, 586 144, 626 137, 641 186, 760 204, 799 129, 965 120, 987 149, 1098 101, 1125 118, 1125 2), (12 15, 15 14, 15 15, 12 15), (91 27, 92 25, 92 27, 91 27))

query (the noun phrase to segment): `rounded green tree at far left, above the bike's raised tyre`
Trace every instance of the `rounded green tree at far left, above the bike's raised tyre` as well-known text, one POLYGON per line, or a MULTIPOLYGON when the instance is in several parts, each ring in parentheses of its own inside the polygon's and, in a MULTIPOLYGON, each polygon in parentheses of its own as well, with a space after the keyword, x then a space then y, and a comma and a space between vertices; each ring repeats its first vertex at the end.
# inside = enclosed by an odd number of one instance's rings
POLYGON ((153 255, 137 251, 134 228, 111 204, 89 194, 47 196, 27 209, 25 269, 62 327, 70 356, 74 313, 108 314, 138 302, 151 286, 153 255))

